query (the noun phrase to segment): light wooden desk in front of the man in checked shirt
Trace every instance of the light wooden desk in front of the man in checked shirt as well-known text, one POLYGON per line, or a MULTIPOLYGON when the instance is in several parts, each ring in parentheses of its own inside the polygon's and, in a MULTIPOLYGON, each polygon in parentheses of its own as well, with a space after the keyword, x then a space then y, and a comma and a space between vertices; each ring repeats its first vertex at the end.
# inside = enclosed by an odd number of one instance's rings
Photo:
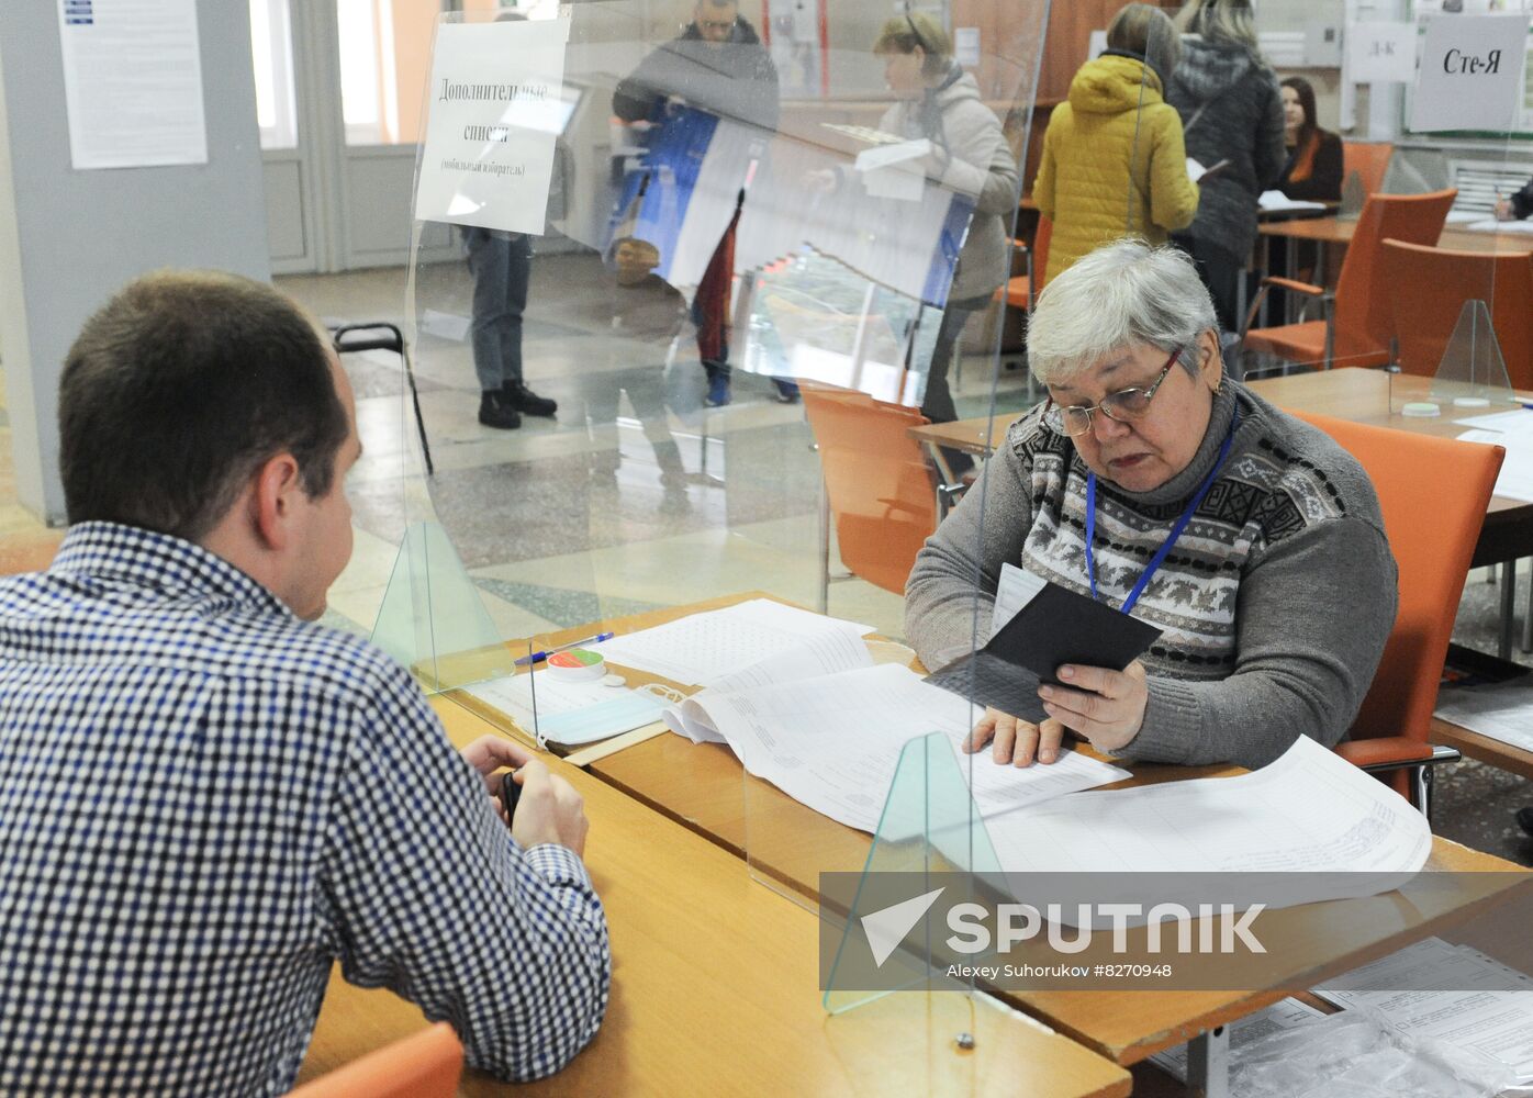
MULTIPOLYGON (((492 731, 458 705, 435 704, 460 745, 492 731)), ((515 1093, 1128 1093, 1122 1067, 987 997, 908 992, 828 1017, 811 912, 750 880, 719 847, 589 774, 549 765, 586 797, 586 860, 607 908, 613 986, 590 1047, 515 1093), (972 1052, 954 1046, 960 1032, 973 1034, 972 1052)), ((414 1004, 336 975, 299 1078, 425 1024, 414 1004)), ((510 1092, 477 1072, 460 1090, 510 1092)))

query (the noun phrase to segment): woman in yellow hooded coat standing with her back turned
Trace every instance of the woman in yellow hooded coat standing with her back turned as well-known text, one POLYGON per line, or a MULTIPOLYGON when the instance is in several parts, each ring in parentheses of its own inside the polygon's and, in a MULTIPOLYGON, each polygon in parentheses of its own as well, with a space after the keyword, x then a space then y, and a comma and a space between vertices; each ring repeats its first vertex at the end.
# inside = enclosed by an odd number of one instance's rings
POLYGON ((1075 74, 1044 135, 1033 201, 1053 221, 1049 279, 1122 236, 1164 244, 1197 213, 1182 118, 1160 95, 1160 74, 1180 52, 1171 20, 1131 3, 1108 28, 1107 46, 1075 74))

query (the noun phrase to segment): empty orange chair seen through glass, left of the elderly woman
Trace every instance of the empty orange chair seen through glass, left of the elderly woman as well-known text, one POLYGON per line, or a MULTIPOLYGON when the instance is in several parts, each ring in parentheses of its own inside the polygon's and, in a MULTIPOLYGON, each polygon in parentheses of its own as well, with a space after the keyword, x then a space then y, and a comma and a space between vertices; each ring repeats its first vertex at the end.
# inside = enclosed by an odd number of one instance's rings
POLYGON ((927 419, 866 393, 800 382, 820 448, 842 564, 868 583, 904 593, 915 554, 937 529, 937 491, 920 443, 906 434, 927 419))

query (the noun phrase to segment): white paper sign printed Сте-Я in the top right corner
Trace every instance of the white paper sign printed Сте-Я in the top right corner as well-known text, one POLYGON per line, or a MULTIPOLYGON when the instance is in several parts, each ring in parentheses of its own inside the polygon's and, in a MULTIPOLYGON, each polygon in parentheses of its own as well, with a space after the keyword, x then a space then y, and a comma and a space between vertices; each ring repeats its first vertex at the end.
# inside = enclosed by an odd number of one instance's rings
POLYGON ((1527 12, 1427 20, 1410 129, 1510 130, 1522 103, 1527 40, 1527 12))

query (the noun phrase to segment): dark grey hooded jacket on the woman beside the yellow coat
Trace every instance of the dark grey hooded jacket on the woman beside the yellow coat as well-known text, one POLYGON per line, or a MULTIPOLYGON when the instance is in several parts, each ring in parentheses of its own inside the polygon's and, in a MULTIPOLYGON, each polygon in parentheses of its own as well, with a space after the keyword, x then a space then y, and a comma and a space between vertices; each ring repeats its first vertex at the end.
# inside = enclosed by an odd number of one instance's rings
POLYGON ((1188 156, 1203 167, 1229 161, 1199 179, 1197 218, 1185 235, 1245 262, 1257 198, 1277 186, 1288 161, 1277 77, 1243 46, 1188 34, 1165 101, 1182 115, 1188 156))

